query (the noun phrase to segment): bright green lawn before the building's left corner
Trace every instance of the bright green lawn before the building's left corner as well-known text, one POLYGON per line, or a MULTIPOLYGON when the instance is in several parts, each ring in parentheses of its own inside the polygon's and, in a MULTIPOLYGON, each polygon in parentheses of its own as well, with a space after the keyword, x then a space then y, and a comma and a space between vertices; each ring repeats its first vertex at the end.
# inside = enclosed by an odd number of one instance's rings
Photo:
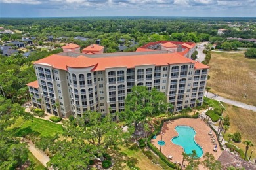
MULTIPOLYGON (((9 129, 13 129, 14 127, 19 127, 24 120, 22 118, 18 118, 16 120, 16 123, 9 127, 9 129)), ((42 136, 53 136, 56 133, 63 133, 62 126, 60 124, 55 124, 53 122, 49 122, 47 120, 42 120, 39 118, 33 118, 33 121, 28 120, 20 126, 20 129, 17 129, 17 131, 22 130, 24 128, 32 129, 32 131, 37 131, 42 136)))

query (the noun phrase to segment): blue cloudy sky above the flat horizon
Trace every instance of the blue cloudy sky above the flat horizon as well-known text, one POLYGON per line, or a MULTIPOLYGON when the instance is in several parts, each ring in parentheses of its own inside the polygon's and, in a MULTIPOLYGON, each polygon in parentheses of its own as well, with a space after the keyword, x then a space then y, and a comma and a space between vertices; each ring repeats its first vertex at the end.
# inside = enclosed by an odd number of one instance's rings
POLYGON ((256 17, 256 0, 0 0, 1 17, 256 17))

